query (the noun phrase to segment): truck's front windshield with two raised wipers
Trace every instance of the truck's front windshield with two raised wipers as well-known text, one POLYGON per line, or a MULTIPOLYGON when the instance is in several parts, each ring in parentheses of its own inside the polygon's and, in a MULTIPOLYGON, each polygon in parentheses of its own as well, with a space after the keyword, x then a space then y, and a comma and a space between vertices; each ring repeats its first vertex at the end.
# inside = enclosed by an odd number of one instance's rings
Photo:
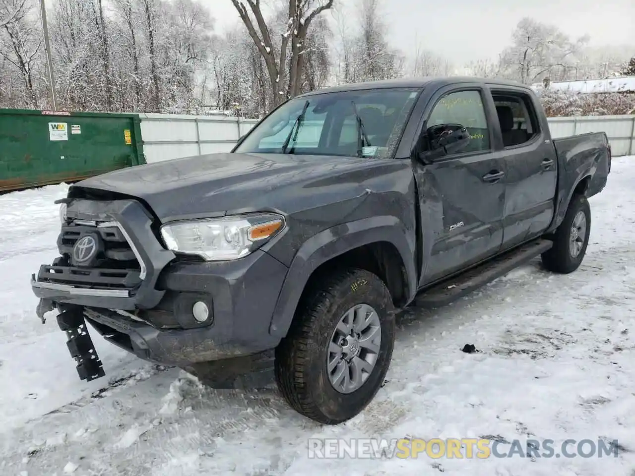
POLYGON ((389 157, 420 89, 366 89, 295 98, 234 152, 389 157))

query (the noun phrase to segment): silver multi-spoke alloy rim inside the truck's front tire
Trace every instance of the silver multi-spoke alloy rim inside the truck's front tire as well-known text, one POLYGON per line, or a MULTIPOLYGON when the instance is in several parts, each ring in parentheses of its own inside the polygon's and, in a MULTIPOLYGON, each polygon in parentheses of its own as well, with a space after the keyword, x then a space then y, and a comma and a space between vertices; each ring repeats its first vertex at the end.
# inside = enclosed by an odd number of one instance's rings
POLYGON ((377 311, 354 306, 340 318, 328 344, 326 370, 333 388, 351 393, 368 379, 379 355, 382 330, 377 311))

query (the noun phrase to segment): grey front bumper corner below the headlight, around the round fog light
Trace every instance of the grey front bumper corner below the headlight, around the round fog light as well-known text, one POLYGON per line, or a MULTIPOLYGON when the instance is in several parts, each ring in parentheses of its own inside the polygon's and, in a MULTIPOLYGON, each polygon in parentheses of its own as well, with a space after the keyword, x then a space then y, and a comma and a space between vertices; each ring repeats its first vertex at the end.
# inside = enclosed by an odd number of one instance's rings
POLYGON ((276 347, 269 325, 287 268, 264 253, 224 263, 173 263, 159 278, 164 298, 152 310, 122 315, 84 308, 106 340, 141 359, 188 366, 276 347), (203 301, 210 322, 197 322, 192 306, 203 301))

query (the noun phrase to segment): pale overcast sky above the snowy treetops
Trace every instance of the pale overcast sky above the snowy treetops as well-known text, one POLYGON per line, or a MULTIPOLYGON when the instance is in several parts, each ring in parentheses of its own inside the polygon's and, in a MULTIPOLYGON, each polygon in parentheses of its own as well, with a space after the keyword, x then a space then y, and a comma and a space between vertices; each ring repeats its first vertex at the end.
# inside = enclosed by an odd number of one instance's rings
MULTIPOLYGON (((231 0, 201 1, 210 6, 217 30, 239 21, 231 0)), ((357 1, 335 4, 349 18, 357 1)), ((383 10, 389 41, 406 55, 416 39, 453 63, 495 58, 523 17, 552 23, 571 37, 588 33, 592 46, 622 45, 635 55, 635 0, 384 0, 383 10)))

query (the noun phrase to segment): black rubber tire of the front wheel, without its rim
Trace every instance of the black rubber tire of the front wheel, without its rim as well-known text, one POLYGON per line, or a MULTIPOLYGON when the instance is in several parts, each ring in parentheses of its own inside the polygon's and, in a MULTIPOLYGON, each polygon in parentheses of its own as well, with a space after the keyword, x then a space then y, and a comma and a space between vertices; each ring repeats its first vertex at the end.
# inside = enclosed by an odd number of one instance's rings
POLYGON ((366 270, 333 272, 309 286, 289 333, 276 348, 276 381, 284 399, 298 413, 336 425, 361 412, 384 383, 394 347, 394 305, 384 282, 366 270), (378 357, 358 390, 340 393, 326 369, 328 343, 342 315, 359 304, 370 305, 379 316, 378 357))

